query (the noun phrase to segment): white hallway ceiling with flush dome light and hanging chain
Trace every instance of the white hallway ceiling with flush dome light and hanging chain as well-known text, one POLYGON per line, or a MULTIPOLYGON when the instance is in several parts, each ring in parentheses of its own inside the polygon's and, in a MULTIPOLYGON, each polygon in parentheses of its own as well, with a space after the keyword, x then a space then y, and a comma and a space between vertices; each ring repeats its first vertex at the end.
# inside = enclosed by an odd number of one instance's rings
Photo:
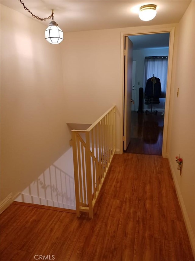
MULTIPOLYGON (((23 9, 23 5, 18 0, 1 0, 0 2, 32 19, 36 19, 23 9)), ((23 2, 34 15, 40 18, 50 16, 51 9, 54 9, 54 21, 58 23, 59 27, 64 32, 76 32, 178 23, 191 1, 23 0, 23 2), (157 5, 156 17, 147 22, 141 21, 138 17, 139 7, 145 4, 157 5)), ((49 24, 48 20, 39 22, 45 24, 46 27, 49 24)))

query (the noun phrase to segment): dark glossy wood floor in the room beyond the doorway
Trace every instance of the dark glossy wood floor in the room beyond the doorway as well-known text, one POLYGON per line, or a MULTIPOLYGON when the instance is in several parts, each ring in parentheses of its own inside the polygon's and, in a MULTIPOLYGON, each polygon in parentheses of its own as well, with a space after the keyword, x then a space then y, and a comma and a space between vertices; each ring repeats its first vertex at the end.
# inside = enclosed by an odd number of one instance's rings
POLYGON ((126 153, 162 155, 164 117, 161 112, 156 115, 131 113, 131 141, 126 153))

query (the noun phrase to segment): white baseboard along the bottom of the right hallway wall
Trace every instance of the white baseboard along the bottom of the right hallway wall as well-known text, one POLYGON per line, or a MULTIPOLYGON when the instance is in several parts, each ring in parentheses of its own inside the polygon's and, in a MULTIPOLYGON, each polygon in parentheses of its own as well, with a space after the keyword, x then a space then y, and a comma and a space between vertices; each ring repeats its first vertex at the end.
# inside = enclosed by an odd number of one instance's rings
POLYGON ((184 201, 183 201, 183 197, 182 197, 182 194, 181 194, 181 191, 180 191, 180 188, 179 188, 179 184, 178 184, 178 181, 177 181, 177 178, 176 178, 176 174, 175 174, 175 171, 174 171, 174 168, 173 168, 173 165, 172 165, 172 162, 170 160, 169 155, 168 155, 168 161, 169 161, 169 166, 170 166, 170 169, 171 169, 173 181, 174 181, 174 184, 175 184, 177 197, 179 199, 180 207, 181 207, 181 210, 182 210, 184 222, 185 222, 185 225, 186 225, 188 237, 189 237, 190 244, 191 244, 191 247, 192 247, 193 256, 194 256, 194 259, 195 259, 195 236, 193 234, 192 226, 191 226, 190 220, 188 218, 188 214, 187 214, 186 207, 185 207, 185 204, 184 204, 184 201))

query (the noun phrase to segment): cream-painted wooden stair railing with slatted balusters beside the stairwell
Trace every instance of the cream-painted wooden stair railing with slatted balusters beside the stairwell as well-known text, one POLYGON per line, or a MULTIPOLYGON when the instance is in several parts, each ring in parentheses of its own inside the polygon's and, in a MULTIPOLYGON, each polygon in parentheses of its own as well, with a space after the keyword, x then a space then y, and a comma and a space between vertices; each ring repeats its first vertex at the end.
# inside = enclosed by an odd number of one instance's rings
POLYGON ((76 215, 93 209, 115 153, 115 105, 87 130, 72 130, 76 215))

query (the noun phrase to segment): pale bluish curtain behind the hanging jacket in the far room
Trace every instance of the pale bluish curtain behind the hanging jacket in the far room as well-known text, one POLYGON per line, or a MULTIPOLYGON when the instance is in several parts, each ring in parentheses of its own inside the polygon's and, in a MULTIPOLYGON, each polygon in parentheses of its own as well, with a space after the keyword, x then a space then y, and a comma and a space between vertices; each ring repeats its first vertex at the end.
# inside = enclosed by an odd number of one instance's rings
POLYGON ((147 79, 157 77, 161 81, 161 98, 165 98, 167 88, 168 56, 148 56, 144 61, 143 86, 146 87, 147 79))

